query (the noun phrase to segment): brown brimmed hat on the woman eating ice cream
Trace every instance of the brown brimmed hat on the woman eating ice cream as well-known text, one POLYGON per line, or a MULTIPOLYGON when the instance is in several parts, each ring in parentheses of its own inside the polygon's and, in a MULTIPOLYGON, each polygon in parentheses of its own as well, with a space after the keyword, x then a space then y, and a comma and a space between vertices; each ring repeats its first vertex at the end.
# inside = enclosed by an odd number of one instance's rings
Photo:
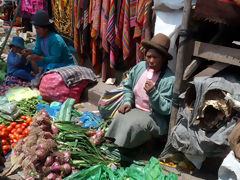
POLYGON ((170 39, 164 34, 157 34, 149 40, 143 40, 142 45, 145 49, 156 49, 158 52, 163 54, 168 60, 172 59, 172 55, 168 53, 170 46, 170 39))

